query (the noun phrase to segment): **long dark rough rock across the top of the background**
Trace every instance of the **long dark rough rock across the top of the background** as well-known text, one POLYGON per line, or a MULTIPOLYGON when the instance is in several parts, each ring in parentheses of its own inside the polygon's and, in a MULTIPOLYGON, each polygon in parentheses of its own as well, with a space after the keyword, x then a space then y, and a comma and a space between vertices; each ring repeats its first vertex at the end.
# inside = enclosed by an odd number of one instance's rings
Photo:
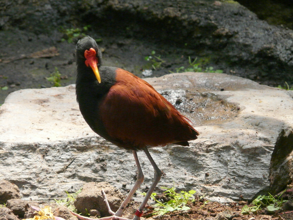
POLYGON ((272 85, 292 81, 293 31, 268 25, 236 1, 4 1, 0 14, 4 30, 40 34, 86 23, 98 35, 177 43, 229 74, 272 85))

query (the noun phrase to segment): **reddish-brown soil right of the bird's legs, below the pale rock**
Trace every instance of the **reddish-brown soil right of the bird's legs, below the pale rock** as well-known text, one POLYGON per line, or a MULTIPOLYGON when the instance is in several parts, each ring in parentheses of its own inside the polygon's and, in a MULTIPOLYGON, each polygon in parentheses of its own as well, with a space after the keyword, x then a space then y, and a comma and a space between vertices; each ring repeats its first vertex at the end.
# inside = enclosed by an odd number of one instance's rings
MULTIPOLYGON (((196 195, 196 194, 195 194, 196 195)), ((187 211, 173 211, 167 212, 165 215, 152 215, 154 213, 153 205, 147 206, 148 210, 144 211, 142 217, 153 218, 153 219, 165 219, 165 220, 186 220, 186 219, 196 219, 196 220, 292 220, 293 212, 284 213, 293 210, 293 193, 288 192, 282 195, 283 199, 288 200, 284 203, 281 210, 274 213, 269 212, 267 209, 259 210, 255 213, 250 212, 249 214, 241 214, 241 209, 244 205, 249 207, 253 206, 247 201, 238 201, 232 203, 221 204, 218 202, 207 201, 206 199, 198 199, 195 196, 195 202, 188 204, 191 208, 187 211)), ((159 201, 167 202, 168 199, 163 194, 158 194, 159 201)), ((124 215, 130 214, 128 218, 132 219, 132 215, 135 213, 139 203, 131 201, 124 215)))

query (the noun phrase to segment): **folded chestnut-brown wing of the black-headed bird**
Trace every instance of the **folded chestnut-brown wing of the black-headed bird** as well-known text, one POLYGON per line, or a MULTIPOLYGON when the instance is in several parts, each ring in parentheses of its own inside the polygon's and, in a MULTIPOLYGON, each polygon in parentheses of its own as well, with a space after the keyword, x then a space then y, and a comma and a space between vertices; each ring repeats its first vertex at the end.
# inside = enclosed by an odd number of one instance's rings
POLYGON ((100 115, 120 147, 137 149, 197 138, 199 133, 150 84, 122 69, 117 69, 116 81, 100 105, 100 115))

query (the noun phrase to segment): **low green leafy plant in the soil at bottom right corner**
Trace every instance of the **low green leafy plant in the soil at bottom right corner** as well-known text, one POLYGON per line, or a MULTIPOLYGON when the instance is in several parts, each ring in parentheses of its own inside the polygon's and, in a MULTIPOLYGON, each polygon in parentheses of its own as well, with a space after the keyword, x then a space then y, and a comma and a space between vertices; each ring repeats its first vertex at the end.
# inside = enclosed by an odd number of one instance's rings
POLYGON ((251 202, 251 204, 253 204, 252 207, 248 207, 247 205, 243 206, 241 214, 256 212, 262 208, 267 208, 270 212, 279 210, 282 207, 282 204, 287 202, 287 200, 283 200, 281 197, 284 192, 285 190, 279 196, 272 196, 270 193, 268 196, 259 195, 251 202))

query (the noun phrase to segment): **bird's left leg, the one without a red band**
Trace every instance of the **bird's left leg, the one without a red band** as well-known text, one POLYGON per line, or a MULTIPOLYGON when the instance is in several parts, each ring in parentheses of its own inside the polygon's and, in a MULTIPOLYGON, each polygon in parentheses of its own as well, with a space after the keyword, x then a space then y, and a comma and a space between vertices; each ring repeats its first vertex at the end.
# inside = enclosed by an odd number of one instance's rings
POLYGON ((121 206, 116 211, 115 216, 122 216, 123 211, 124 211, 126 205, 130 201, 130 199, 132 198, 133 194, 136 192, 136 190, 138 189, 138 187, 144 181, 144 174, 143 174, 142 168, 140 167, 140 164, 139 164, 139 160, 138 160, 138 157, 137 157, 137 152, 135 150, 132 150, 132 153, 133 153, 134 160, 135 160, 135 163, 136 163, 136 166, 137 166, 137 177, 136 177, 136 181, 134 183, 134 186, 132 187, 132 189, 128 193, 127 197, 124 199, 124 201, 122 202, 121 206))

